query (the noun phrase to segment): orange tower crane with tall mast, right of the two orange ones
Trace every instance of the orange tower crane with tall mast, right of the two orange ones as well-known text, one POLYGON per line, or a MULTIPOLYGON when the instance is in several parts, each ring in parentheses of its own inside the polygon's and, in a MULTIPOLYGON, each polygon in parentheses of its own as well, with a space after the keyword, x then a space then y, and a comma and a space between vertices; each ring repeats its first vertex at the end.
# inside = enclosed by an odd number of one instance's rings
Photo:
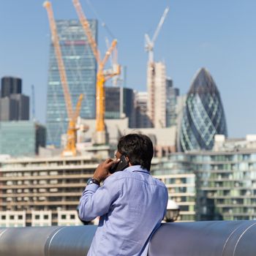
POLYGON ((78 13, 80 23, 86 33, 86 37, 88 39, 89 45, 91 46, 91 50, 94 53, 94 57, 98 64, 96 85, 96 131, 94 134, 94 143, 105 144, 107 143, 107 135, 105 130, 105 82, 108 79, 113 78, 113 76, 120 74, 120 66, 116 64, 111 70, 104 70, 104 67, 106 62, 108 61, 108 58, 110 57, 110 54, 113 52, 114 48, 116 48, 117 41, 116 39, 113 40, 110 48, 105 53, 105 57, 101 59, 99 49, 97 48, 97 42, 95 42, 94 37, 91 33, 89 21, 87 20, 86 15, 83 12, 80 1, 72 1, 75 10, 78 13))

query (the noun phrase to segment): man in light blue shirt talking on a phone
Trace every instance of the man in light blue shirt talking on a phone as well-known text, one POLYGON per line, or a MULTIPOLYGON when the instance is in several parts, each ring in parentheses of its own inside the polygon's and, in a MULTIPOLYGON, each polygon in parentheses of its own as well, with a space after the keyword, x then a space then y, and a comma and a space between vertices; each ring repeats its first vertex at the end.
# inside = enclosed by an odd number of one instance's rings
POLYGON ((151 140, 129 134, 117 147, 117 160, 107 159, 97 167, 80 198, 80 219, 100 216, 89 256, 146 255, 148 241, 165 217, 167 188, 149 173, 151 140), (121 155, 129 166, 110 174, 121 155), (99 187, 101 181, 105 182, 99 187))

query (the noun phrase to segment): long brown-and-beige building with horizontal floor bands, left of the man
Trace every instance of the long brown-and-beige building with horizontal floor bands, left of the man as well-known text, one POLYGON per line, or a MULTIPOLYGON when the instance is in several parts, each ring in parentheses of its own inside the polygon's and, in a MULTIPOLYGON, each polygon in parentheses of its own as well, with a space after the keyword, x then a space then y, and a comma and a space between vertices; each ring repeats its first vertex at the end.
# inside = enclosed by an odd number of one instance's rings
POLYGON ((77 206, 99 159, 1 160, 0 226, 80 225, 77 206))

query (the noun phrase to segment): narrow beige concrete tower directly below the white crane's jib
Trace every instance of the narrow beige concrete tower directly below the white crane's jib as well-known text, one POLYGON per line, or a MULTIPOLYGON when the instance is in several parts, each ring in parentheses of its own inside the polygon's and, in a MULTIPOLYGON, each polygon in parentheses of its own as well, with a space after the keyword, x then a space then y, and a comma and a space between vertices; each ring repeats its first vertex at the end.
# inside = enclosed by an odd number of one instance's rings
POLYGON ((154 75, 152 67, 148 65, 148 116, 154 128, 166 127, 166 71, 165 64, 154 62, 154 75))

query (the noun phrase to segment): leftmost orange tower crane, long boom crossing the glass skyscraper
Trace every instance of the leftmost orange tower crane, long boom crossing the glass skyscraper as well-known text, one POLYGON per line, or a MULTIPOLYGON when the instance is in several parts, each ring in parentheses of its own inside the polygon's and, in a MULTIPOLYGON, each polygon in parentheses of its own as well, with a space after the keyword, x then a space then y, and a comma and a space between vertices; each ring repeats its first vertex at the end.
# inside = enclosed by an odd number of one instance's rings
POLYGON ((48 19, 50 23, 50 31, 53 41, 53 46, 55 50, 56 60, 59 68, 59 75, 61 78, 61 86, 64 93, 64 99, 66 103, 67 108, 67 116, 69 118, 69 124, 67 129, 67 143, 64 148, 64 151, 62 152, 62 155, 64 156, 75 156, 77 154, 76 151, 76 123, 77 119, 80 113, 81 108, 81 102, 83 100, 83 94, 80 94, 80 97, 78 99, 78 103, 76 105, 75 111, 72 109, 72 99, 70 97, 69 93, 69 86, 67 84, 67 75, 66 70, 64 67, 64 61, 62 59, 61 54, 61 46, 59 45, 59 37, 57 33, 56 23, 53 16, 53 9, 51 7, 50 1, 45 1, 43 6, 47 10, 48 13, 48 19))

